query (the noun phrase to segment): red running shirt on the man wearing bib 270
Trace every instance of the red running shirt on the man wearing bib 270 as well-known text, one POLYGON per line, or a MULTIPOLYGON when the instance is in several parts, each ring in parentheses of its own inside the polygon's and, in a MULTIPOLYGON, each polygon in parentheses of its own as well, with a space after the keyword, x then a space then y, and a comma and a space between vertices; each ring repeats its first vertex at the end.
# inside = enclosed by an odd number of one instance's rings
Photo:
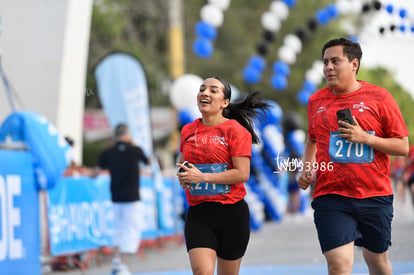
POLYGON ((308 135, 317 143, 317 180, 313 197, 338 194, 351 198, 387 196, 393 193, 389 156, 373 148, 338 137, 336 111, 350 108, 364 131, 376 136, 408 136, 401 111, 384 88, 359 81, 355 92, 334 95, 329 87, 309 98, 308 135), (323 166, 328 169, 321 169, 323 166), (324 170, 324 171, 322 171, 324 170))

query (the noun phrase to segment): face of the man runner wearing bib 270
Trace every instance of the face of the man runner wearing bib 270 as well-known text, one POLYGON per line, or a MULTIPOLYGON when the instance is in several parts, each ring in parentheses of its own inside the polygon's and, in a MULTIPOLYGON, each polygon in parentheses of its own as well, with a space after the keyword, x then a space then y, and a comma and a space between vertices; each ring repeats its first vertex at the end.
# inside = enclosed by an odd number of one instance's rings
POLYGON ((328 86, 335 94, 343 94, 353 87, 356 81, 358 59, 349 61, 343 46, 327 48, 323 55, 323 73, 328 86))

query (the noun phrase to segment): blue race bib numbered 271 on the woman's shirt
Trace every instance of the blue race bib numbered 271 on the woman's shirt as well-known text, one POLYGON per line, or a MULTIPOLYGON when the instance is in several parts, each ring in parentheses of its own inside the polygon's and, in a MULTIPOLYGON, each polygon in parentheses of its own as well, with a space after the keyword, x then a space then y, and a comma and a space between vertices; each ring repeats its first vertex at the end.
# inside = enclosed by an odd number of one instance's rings
MULTIPOLYGON (((228 163, 194 164, 203 173, 218 173, 229 169, 228 163)), ((230 192, 229 184, 215 184, 209 182, 191 183, 192 196, 214 196, 230 192)))

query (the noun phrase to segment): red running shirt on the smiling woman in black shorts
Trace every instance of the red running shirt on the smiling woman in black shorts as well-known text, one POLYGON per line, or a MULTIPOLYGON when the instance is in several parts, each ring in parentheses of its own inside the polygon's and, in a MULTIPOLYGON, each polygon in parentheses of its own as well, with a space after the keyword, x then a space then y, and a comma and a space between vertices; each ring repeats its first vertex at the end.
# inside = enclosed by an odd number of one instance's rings
MULTIPOLYGON (((229 119, 217 126, 207 127, 201 119, 187 124, 181 131, 180 152, 192 164, 226 163, 232 169, 232 157, 251 157, 252 136, 236 120, 229 119)), ((205 201, 232 204, 244 198, 244 183, 230 184, 230 192, 219 195, 193 196, 186 190, 190 205, 205 201)))

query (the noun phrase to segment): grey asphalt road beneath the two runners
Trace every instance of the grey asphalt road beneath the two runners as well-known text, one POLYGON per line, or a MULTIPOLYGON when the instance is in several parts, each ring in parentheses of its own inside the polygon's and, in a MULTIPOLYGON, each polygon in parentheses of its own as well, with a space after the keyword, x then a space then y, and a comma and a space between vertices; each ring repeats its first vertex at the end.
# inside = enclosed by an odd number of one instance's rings
MULTIPOLYGON (((394 274, 414 274, 414 211, 411 201, 395 203, 392 246, 389 250, 394 274), (400 271, 398 271, 400 270, 400 271)), ((134 275, 191 274, 187 252, 182 241, 164 241, 160 247, 149 247, 129 259, 134 275)), ((109 257, 100 264, 92 260, 84 271, 50 272, 48 275, 109 275, 109 257)), ((312 210, 306 215, 285 217, 282 222, 266 222, 252 232, 241 274, 326 274, 313 224, 312 210)), ((355 249, 353 274, 368 274, 360 249, 355 249)))

